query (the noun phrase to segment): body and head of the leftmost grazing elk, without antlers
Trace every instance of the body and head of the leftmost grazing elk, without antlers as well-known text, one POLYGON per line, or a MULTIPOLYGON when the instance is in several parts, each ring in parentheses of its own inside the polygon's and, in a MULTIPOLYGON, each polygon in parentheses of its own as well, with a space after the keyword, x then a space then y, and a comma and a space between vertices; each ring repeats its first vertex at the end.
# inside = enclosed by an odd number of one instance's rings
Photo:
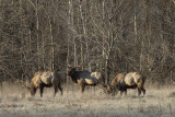
POLYGON ((56 71, 55 72, 38 71, 34 74, 31 81, 31 86, 30 86, 31 95, 34 96, 36 93, 36 90, 39 89, 40 97, 42 97, 44 87, 51 87, 51 86, 54 87, 54 91, 55 91, 54 96, 58 92, 58 89, 60 90, 62 95, 62 87, 61 87, 59 74, 56 71))

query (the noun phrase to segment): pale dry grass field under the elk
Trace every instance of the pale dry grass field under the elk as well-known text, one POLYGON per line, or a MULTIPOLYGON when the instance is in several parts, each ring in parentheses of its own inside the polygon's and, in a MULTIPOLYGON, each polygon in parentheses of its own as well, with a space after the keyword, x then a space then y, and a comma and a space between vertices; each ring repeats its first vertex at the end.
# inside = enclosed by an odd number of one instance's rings
POLYGON ((109 96, 100 87, 66 90, 52 97, 52 89, 37 91, 34 97, 21 86, 3 83, 0 87, 0 117, 175 117, 175 86, 145 86, 147 95, 109 96))

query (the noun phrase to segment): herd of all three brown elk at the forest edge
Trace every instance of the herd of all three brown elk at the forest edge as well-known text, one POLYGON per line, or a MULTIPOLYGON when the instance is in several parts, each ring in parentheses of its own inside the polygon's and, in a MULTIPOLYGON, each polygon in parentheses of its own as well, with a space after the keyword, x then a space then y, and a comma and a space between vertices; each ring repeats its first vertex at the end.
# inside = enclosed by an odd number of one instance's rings
MULTIPOLYGON (((120 95, 127 94, 128 89, 138 89, 138 95, 145 94, 144 82, 145 77, 139 72, 122 72, 118 73, 109 84, 105 84, 105 77, 102 72, 90 72, 85 70, 78 70, 79 67, 68 66, 68 75, 72 82, 81 86, 81 92, 83 93, 86 85, 96 86, 102 85, 106 94, 116 95, 120 92, 120 95)), ((26 86, 34 96, 37 89, 39 90, 40 97, 43 96, 44 87, 52 87, 54 96, 60 91, 62 95, 61 80, 58 71, 38 71, 34 74, 31 80, 30 86, 26 86)))

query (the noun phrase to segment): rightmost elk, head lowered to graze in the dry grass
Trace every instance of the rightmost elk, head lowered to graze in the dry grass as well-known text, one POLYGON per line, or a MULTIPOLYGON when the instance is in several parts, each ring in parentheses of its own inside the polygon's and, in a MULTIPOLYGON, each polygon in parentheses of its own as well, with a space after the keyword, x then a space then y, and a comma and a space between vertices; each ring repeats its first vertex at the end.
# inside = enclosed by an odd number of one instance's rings
POLYGON ((112 95, 116 95, 118 91, 120 91, 120 95, 125 92, 127 94, 127 89, 137 89, 138 95, 144 90, 145 77, 138 72, 129 72, 129 73, 118 73, 115 79, 113 79, 112 83, 107 86, 107 93, 112 93, 112 95))

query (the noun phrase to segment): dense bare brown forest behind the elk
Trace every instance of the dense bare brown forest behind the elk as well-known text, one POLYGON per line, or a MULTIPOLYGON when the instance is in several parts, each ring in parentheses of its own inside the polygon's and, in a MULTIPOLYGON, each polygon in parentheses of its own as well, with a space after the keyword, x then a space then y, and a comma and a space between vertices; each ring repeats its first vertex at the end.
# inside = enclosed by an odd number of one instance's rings
POLYGON ((67 65, 175 78, 175 0, 0 0, 0 82, 67 65))

